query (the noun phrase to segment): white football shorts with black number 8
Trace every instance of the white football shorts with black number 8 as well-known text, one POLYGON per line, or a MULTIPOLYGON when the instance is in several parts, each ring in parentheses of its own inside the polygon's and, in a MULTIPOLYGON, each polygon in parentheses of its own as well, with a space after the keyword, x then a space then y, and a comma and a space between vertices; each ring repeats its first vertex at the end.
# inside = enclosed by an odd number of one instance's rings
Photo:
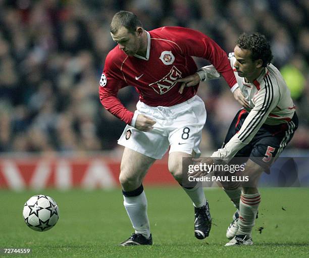
POLYGON ((135 113, 155 120, 156 124, 149 132, 127 125, 118 144, 157 160, 162 159, 169 146, 169 153, 195 152, 195 157, 199 157, 198 146, 207 116, 199 96, 172 107, 150 107, 138 101, 136 108, 135 113))

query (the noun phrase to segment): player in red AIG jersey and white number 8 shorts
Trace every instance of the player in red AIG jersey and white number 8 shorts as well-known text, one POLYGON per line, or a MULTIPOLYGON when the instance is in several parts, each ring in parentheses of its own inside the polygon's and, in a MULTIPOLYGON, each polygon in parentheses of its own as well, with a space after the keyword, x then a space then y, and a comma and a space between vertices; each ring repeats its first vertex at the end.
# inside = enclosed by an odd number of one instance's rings
MULTIPOLYGON (((198 157, 206 120, 198 85, 178 92, 176 80, 196 72, 191 56, 209 60, 230 88, 237 82, 226 53, 208 36, 188 28, 162 27, 145 31, 137 17, 120 11, 113 17, 111 35, 118 44, 108 54, 100 79, 101 104, 127 123, 118 143, 125 146, 120 171, 124 206, 135 232, 121 245, 152 244, 147 200, 142 180, 149 167, 170 148, 168 167, 182 182, 182 158, 198 157), (128 111, 117 98, 128 85, 139 93, 137 110, 128 111)), ((241 94, 234 92, 238 101, 241 94)), ((209 235, 209 204, 200 187, 184 188, 195 210, 195 237, 209 235)))

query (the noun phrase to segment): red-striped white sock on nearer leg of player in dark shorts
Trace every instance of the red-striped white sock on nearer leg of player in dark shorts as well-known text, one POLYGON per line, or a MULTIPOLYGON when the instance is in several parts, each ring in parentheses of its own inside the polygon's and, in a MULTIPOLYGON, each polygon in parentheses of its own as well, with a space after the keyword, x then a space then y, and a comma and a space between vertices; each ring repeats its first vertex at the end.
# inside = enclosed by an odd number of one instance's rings
POLYGON ((259 192, 254 194, 241 193, 237 235, 245 234, 251 236, 260 202, 261 195, 259 192))

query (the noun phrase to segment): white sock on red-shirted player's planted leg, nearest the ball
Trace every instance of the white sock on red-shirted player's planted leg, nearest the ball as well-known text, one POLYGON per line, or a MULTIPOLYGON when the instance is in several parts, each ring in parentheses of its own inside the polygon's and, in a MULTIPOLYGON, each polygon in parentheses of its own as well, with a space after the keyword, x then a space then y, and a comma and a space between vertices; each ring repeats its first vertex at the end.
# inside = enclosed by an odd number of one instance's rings
POLYGON ((123 204, 131 220, 136 234, 142 234, 144 237, 150 237, 150 225, 147 216, 147 199, 145 192, 138 196, 123 196, 123 204))

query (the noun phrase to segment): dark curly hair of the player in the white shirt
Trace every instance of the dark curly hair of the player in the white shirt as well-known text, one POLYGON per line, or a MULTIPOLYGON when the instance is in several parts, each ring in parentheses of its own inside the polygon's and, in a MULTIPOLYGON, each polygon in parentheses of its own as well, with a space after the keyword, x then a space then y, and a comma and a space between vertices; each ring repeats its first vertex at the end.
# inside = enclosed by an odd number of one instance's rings
POLYGON ((266 37, 258 32, 247 35, 242 33, 236 40, 236 44, 242 49, 248 49, 251 51, 251 60, 263 61, 263 67, 270 64, 273 59, 270 43, 266 37))

